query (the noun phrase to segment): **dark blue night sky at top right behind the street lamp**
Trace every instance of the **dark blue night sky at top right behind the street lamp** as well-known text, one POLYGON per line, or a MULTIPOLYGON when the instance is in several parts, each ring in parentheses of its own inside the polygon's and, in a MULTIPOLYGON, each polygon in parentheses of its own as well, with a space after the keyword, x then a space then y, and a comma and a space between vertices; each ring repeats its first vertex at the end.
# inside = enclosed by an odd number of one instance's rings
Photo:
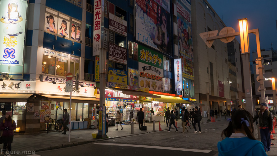
MULTIPOLYGON (((261 49, 277 50, 277 0, 207 0, 226 26, 239 32, 238 19, 247 18, 248 29, 259 29, 261 49)), ((220 30, 219 30, 220 31, 220 30)), ((239 36, 236 39, 240 42, 239 36)), ((249 34, 250 52, 257 50, 256 35, 249 34)), ((251 60, 251 58, 250 58, 251 60)))

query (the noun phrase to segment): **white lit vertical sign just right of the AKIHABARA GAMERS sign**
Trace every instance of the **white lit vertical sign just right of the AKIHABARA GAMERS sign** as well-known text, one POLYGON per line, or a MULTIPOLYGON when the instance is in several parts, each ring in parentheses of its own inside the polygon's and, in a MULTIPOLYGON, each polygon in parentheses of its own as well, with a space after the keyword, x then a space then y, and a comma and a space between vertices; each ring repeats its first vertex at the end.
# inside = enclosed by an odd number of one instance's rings
POLYGON ((175 91, 183 90, 181 59, 174 59, 175 91))

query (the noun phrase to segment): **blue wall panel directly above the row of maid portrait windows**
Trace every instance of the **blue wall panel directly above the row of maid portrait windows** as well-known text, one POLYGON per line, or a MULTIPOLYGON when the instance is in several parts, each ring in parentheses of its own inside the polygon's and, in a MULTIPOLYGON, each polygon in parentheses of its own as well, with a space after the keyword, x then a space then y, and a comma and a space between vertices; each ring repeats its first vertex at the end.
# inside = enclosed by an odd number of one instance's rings
POLYGON ((72 4, 71 2, 65 0, 47 0, 46 6, 82 21, 82 8, 72 4))

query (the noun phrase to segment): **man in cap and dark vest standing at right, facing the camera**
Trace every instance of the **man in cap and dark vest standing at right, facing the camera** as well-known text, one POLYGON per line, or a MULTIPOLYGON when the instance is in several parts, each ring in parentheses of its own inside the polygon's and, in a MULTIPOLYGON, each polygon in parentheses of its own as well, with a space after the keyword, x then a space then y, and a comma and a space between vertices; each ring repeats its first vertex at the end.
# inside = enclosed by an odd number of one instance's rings
POLYGON ((260 103, 260 110, 254 117, 254 121, 259 118, 261 142, 264 144, 265 152, 270 151, 270 133, 273 130, 273 116, 270 111, 266 109, 266 104, 260 103))

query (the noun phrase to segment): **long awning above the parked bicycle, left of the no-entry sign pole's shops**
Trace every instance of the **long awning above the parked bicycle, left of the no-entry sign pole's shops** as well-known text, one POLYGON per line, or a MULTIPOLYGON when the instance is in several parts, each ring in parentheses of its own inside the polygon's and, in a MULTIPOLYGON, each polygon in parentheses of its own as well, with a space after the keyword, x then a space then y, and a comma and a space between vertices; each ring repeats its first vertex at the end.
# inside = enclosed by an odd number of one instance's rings
MULTIPOLYGON (((50 101, 56 102, 70 102, 70 97, 68 96, 55 96, 55 95, 45 95, 39 94, 44 97, 48 97, 50 101)), ((92 97, 71 97, 71 102, 78 102, 78 103, 99 103, 99 99, 92 98, 92 97)))

